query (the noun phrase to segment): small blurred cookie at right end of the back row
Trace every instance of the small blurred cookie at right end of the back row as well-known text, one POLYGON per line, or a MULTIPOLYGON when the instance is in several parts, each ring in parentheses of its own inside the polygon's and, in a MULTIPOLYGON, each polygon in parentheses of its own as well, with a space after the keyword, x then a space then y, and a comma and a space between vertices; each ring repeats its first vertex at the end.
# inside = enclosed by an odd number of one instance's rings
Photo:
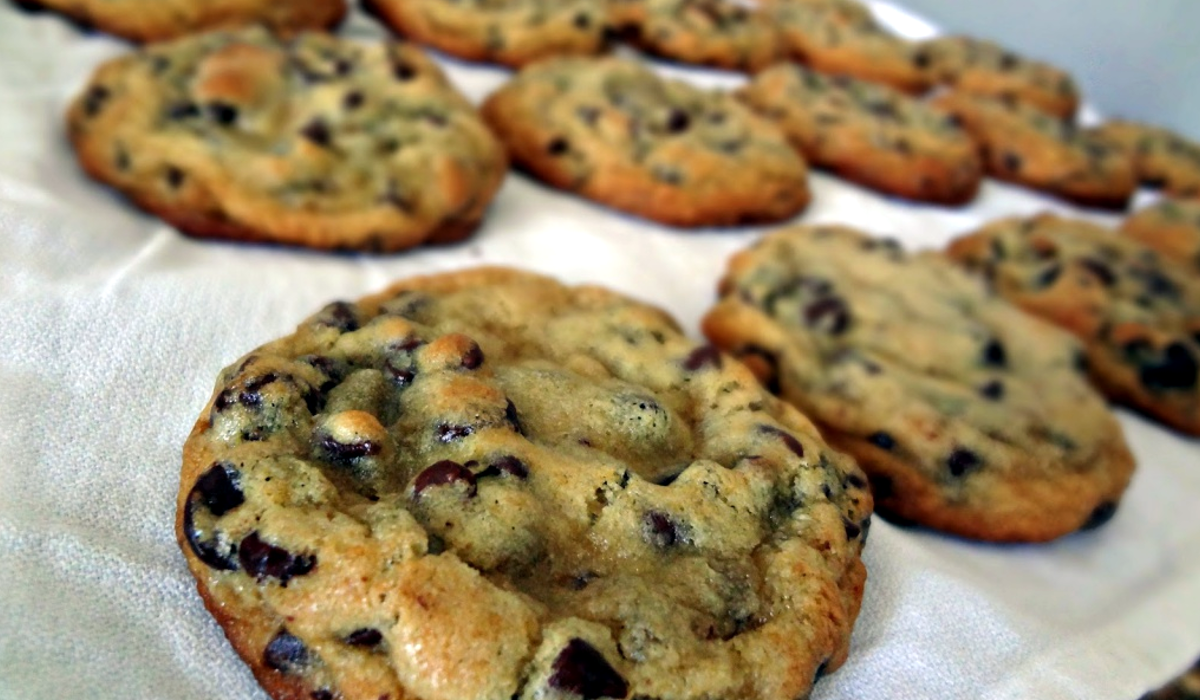
POLYGON ((1079 88, 1063 70, 968 36, 940 36, 917 49, 934 80, 959 92, 1037 107, 1060 119, 1079 109, 1079 88))

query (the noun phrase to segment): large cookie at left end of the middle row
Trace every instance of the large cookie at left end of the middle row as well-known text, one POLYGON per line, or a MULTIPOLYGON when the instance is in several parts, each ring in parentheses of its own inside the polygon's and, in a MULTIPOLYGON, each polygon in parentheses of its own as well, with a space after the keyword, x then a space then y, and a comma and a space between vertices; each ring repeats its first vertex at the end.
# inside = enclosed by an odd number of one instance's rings
POLYGON ((89 175, 202 238, 396 251, 458 240, 503 146, 419 49, 262 29, 101 66, 68 133, 89 175))

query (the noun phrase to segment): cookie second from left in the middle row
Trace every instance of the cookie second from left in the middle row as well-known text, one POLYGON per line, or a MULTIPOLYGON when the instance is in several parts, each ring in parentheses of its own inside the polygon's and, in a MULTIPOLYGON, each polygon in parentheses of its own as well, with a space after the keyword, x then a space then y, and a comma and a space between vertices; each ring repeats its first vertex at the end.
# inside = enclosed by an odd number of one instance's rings
POLYGON ((637 61, 529 66, 482 114, 539 179, 661 223, 780 221, 809 202, 808 167, 775 125, 637 61))

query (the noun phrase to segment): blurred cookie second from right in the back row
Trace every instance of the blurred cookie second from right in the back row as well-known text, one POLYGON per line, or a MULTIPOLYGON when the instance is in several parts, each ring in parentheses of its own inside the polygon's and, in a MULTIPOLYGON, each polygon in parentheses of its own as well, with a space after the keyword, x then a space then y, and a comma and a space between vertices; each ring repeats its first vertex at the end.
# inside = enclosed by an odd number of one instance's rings
POLYGON ((905 92, 929 89, 917 44, 880 24, 853 0, 764 0, 788 54, 823 73, 884 83, 905 92))

